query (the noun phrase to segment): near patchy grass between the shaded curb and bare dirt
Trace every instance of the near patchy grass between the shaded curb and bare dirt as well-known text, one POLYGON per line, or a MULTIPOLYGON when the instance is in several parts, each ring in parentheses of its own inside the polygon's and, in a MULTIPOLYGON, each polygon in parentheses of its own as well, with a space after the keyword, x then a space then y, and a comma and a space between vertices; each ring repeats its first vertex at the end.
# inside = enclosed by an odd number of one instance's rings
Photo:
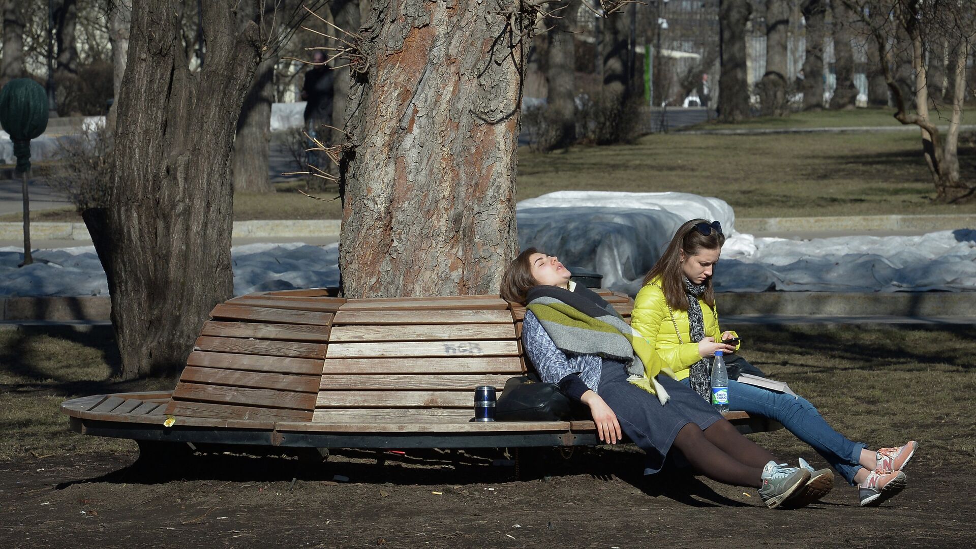
MULTIPOLYGON (((894 445, 914 438, 936 463, 964 463, 976 453, 976 424, 960 400, 976 393, 972 330, 750 326, 740 333, 747 359, 815 402, 851 439, 894 445)), ((135 451, 129 441, 69 432, 58 411, 69 398, 175 385, 117 383, 117 363, 110 330, 0 331, 0 461, 135 451)), ((812 453, 786 431, 756 437, 782 455, 812 453)))

